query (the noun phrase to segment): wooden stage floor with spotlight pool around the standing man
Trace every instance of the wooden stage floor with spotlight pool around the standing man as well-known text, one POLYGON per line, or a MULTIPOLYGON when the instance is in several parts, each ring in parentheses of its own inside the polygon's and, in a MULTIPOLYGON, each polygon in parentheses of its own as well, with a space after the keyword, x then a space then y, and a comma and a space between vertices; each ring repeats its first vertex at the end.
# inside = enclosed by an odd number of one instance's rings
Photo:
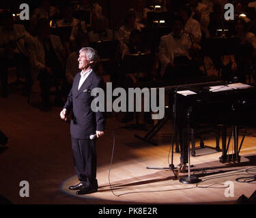
MULTIPOLYGON (((14 204, 233 204, 256 190, 255 182, 236 181, 256 174, 255 129, 244 140, 241 162, 232 164, 218 161, 221 152, 214 150, 214 136, 205 135, 205 149, 197 149, 196 157, 191 157, 191 174, 201 183, 188 185, 175 180, 171 170, 147 169, 169 166, 170 122, 154 138, 158 146, 153 146, 134 138, 145 131, 119 128, 124 114, 113 113, 97 142, 98 192, 76 196, 68 190, 77 179, 69 125, 59 119, 61 108, 41 112, 27 104, 19 89, 11 91, 8 99, 0 97, 0 106, 0 130, 10 138, 8 149, 0 154, 0 196, 14 204), (29 182, 29 198, 19 196, 20 181, 29 182), (227 181, 233 184, 233 196, 225 196, 227 181)), ((173 163, 180 163, 180 153, 174 153, 173 163)))

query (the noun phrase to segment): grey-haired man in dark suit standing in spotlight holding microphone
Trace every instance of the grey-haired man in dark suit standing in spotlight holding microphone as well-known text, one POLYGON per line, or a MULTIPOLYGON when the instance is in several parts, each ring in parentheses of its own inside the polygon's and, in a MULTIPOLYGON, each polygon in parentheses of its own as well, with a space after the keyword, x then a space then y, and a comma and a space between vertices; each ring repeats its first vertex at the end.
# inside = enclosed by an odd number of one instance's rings
POLYGON ((90 136, 99 138, 104 134, 105 119, 103 112, 94 112, 91 109, 91 104, 95 102, 91 91, 94 88, 103 88, 103 80, 92 69, 96 59, 96 51, 93 48, 80 50, 78 61, 81 73, 74 77, 67 102, 60 113, 61 119, 66 121, 67 115, 73 110, 70 134, 74 167, 80 183, 70 186, 69 189, 78 190, 78 195, 96 192, 98 189, 96 140, 90 139, 90 136))

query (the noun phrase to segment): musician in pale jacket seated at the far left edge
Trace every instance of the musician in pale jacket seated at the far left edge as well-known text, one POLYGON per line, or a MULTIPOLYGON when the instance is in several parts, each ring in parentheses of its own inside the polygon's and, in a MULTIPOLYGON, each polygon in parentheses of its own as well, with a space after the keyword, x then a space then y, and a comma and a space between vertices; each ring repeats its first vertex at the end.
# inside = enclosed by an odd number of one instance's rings
POLYGON ((18 74, 25 68, 26 85, 29 86, 27 73, 30 66, 25 42, 30 35, 23 25, 14 24, 12 12, 4 11, 2 16, 4 25, 0 27, 1 96, 8 97, 8 67, 17 67, 18 74))

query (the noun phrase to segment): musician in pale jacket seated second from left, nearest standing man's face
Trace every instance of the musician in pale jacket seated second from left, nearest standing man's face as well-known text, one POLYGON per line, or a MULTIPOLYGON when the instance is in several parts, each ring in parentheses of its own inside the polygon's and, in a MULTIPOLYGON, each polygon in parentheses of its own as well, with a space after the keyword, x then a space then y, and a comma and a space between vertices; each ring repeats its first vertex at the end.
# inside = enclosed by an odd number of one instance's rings
MULTIPOLYGON (((38 20, 37 35, 31 37, 29 42, 29 61, 32 65, 33 81, 40 81, 42 110, 48 110, 50 104, 50 89, 55 86, 58 93, 59 84, 65 78, 64 60, 66 52, 57 35, 50 35, 49 21, 46 19, 38 20)), ((56 99, 60 99, 57 96, 56 99)))

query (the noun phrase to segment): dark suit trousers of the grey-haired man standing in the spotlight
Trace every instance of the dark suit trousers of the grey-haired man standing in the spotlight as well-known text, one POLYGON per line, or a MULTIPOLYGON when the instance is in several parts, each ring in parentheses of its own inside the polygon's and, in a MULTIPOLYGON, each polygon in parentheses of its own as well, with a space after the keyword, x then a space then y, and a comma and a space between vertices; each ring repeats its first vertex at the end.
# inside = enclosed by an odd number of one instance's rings
POLYGON ((72 138, 74 168, 79 181, 86 187, 98 189, 96 179, 96 140, 72 138))

